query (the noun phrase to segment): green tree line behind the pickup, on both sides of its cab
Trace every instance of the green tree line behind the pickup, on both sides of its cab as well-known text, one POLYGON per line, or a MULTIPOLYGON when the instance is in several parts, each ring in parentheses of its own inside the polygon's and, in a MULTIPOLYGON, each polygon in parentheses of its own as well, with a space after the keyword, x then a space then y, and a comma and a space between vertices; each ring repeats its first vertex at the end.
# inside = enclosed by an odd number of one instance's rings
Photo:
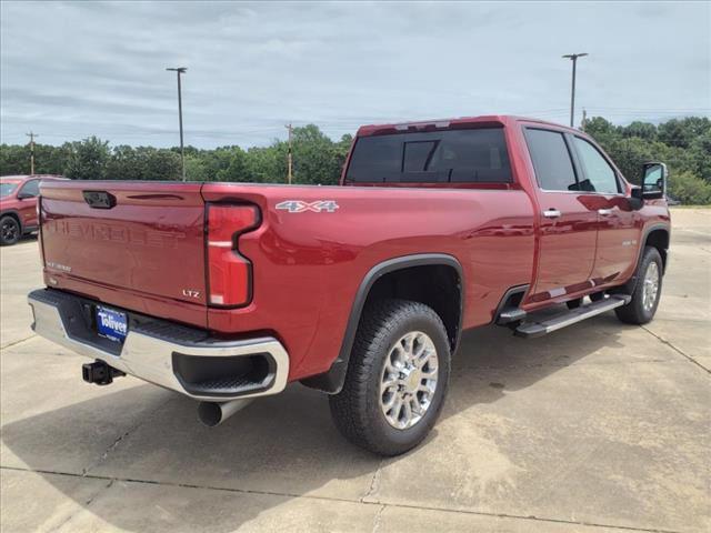
MULTIPOLYGON (((628 180, 639 182, 645 161, 663 161, 670 169, 670 193, 683 203, 711 204, 711 120, 672 119, 660 124, 614 125, 602 117, 588 120, 584 130, 612 157, 628 180)), ((333 141, 314 124, 293 129, 293 182, 337 184, 352 137, 333 141)), ((212 150, 186 148, 190 181, 283 183, 288 143, 238 145, 212 150)), ((111 147, 90 137, 59 147, 34 145, 36 173, 63 174, 77 180, 179 180, 180 149, 111 147)), ((0 174, 29 172, 29 145, 0 144, 0 174)))

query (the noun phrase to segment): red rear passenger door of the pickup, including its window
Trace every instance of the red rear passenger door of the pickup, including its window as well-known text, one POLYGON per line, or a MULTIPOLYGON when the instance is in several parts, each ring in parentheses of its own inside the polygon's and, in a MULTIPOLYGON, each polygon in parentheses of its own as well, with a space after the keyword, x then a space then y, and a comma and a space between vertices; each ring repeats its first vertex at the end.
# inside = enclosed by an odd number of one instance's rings
POLYGON ((538 276, 531 301, 541 302, 590 288, 598 207, 594 198, 580 191, 564 132, 525 128, 524 133, 541 207, 538 276))

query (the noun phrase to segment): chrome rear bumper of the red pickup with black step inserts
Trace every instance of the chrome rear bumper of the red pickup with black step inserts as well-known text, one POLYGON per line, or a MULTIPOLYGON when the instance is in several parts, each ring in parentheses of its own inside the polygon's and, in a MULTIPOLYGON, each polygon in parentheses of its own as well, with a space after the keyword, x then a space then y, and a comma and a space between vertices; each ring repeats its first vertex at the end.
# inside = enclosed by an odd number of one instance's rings
POLYGON ((274 338, 218 340, 202 330, 127 311, 122 344, 96 333, 93 302, 40 289, 28 295, 37 334, 127 374, 196 400, 224 402, 281 392, 289 355, 274 338))

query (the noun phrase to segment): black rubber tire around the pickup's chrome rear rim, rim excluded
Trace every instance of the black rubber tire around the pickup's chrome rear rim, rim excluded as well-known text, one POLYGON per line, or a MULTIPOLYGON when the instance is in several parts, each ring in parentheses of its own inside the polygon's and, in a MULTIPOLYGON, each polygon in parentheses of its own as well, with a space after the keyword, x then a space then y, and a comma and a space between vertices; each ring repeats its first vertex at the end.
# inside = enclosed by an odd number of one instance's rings
POLYGON ((338 430, 352 443, 380 455, 399 455, 428 435, 440 414, 449 384, 451 354, 447 330, 429 306, 405 300, 382 300, 363 310, 340 393, 329 396, 338 430), (394 344, 422 332, 437 350, 437 388, 422 418, 408 429, 392 426, 381 408, 381 376, 394 344))

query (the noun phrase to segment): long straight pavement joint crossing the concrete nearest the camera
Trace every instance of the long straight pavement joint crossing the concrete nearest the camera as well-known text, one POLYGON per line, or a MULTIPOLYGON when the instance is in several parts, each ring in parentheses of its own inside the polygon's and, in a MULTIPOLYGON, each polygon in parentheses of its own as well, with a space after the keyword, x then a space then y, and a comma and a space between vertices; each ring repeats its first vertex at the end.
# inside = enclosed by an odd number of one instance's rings
POLYGON ((518 515, 518 514, 507 514, 507 513, 493 513, 485 511, 472 511, 472 510, 460 510, 460 509, 448 509, 448 507, 435 507, 431 505, 415 505, 415 504, 403 504, 403 503, 381 503, 381 502, 365 502, 362 500, 349 500, 346 497, 332 497, 332 496, 318 496, 313 494, 296 494, 296 493, 286 493, 286 492, 272 492, 272 491, 259 491, 259 490, 250 490, 250 489, 228 489, 223 486, 211 486, 211 485, 196 485, 188 483, 171 483, 163 481, 150 481, 150 480, 137 480, 131 477, 117 477, 117 476, 108 476, 108 475, 99 475, 99 474, 77 474, 72 472, 58 472, 58 471, 48 471, 48 470, 32 470, 32 469, 23 469, 20 466, 0 466, 0 470, 9 470, 14 472, 30 472, 37 474, 50 474, 50 475, 66 475, 71 477, 84 477, 91 480, 107 480, 111 482, 122 482, 122 483, 137 483, 137 484, 146 484, 146 485, 158 485, 166 487, 177 487, 177 489, 198 489, 204 491, 218 491, 218 492, 231 492, 236 494, 254 494, 254 495, 264 495, 264 496, 279 496, 279 497, 292 497, 292 499, 304 499, 304 500, 317 500, 323 502, 342 502, 342 503, 354 503, 361 505, 378 505, 382 507, 395 507, 395 509, 415 509, 422 511, 439 511, 442 513, 452 513, 452 514, 470 514, 474 516, 487 516, 493 519, 511 519, 511 520, 523 520, 523 521, 534 521, 534 522, 543 522, 551 524, 567 524, 567 525, 583 525, 588 527, 605 527, 605 529, 614 529, 620 531, 634 531, 641 533, 679 533, 674 530, 660 530, 654 527, 635 527, 631 525, 615 525, 615 524, 604 524, 599 522, 587 522, 587 521, 577 521, 577 520, 565 520, 565 519, 551 519, 544 516, 534 516, 534 515, 518 515))

